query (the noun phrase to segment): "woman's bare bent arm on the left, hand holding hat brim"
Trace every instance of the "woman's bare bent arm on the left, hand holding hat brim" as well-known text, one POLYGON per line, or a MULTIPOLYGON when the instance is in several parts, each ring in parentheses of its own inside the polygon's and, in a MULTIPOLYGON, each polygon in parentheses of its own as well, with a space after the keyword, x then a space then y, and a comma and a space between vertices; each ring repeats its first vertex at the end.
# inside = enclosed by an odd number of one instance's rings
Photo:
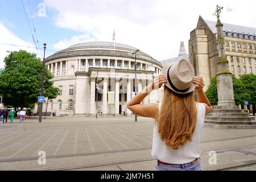
POLYGON ((160 88, 164 83, 167 82, 167 78, 164 75, 159 75, 154 78, 150 85, 146 87, 146 90, 142 90, 137 96, 130 100, 127 104, 127 108, 133 111, 137 115, 142 117, 155 118, 158 116, 158 105, 157 104, 141 104, 143 99, 155 89, 160 88))

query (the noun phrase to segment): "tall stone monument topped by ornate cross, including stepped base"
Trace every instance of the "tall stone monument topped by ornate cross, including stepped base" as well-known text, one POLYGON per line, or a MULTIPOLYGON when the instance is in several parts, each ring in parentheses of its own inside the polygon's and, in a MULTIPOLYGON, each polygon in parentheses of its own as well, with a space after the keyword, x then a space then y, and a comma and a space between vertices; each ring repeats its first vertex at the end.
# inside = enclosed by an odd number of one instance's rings
POLYGON ((217 5, 213 15, 217 16, 217 42, 218 42, 218 72, 217 72, 217 93, 218 105, 210 111, 205 118, 207 127, 223 128, 256 128, 254 116, 250 116, 245 110, 236 106, 234 102, 234 91, 232 73, 228 68, 224 49, 223 24, 220 21, 220 13, 223 7, 217 5))

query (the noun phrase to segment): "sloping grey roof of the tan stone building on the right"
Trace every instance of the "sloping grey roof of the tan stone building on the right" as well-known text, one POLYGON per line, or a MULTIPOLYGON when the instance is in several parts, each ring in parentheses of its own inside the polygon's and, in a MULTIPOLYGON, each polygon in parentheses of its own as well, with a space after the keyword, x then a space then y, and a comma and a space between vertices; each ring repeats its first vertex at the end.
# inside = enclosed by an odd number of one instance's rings
MULTIPOLYGON (((217 33, 216 29, 216 22, 210 20, 204 20, 205 23, 209 26, 210 30, 213 33, 217 33)), ((248 34, 248 35, 256 35, 256 28, 254 27, 245 27, 236 24, 229 24, 229 23, 222 23, 223 24, 223 31, 225 32, 236 32, 241 34, 248 34)))

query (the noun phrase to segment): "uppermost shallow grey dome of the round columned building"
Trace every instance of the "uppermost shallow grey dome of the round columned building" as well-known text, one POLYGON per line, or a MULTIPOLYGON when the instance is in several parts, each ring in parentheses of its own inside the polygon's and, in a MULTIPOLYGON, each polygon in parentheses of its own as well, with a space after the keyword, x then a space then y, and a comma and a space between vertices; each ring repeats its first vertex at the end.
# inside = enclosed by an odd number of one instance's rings
POLYGON ((125 49, 132 49, 134 51, 137 50, 137 48, 126 45, 126 44, 121 44, 121 43, 113 43, 113 42, 84 42, 84 43, 79 43, 75 44, 73 46, 68 47, 70 48, 79 48, 79 47, 116 47, 116 48, 125 48, 125 49))

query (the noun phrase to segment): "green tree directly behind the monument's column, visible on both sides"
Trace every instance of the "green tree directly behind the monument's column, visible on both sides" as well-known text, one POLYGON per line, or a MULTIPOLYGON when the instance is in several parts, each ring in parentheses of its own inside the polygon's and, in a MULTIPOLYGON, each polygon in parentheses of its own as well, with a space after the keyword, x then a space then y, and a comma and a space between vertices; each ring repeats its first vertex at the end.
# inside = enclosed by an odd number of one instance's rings
MULTIPOLYGON (((245 91, 245 85, 243 82, 236 78, 234 75, 232 76, 233 81, 233 90, 234 90, 234 101, 236 105, 243 104, 250 95, 245 91)), ((211 105, 217 105, 218 103, 218 93, 217 93, 217 77, 214 76, 212 81, 210 82, 209 87, 207 88, 205 94, 207 95, 211 105)))

